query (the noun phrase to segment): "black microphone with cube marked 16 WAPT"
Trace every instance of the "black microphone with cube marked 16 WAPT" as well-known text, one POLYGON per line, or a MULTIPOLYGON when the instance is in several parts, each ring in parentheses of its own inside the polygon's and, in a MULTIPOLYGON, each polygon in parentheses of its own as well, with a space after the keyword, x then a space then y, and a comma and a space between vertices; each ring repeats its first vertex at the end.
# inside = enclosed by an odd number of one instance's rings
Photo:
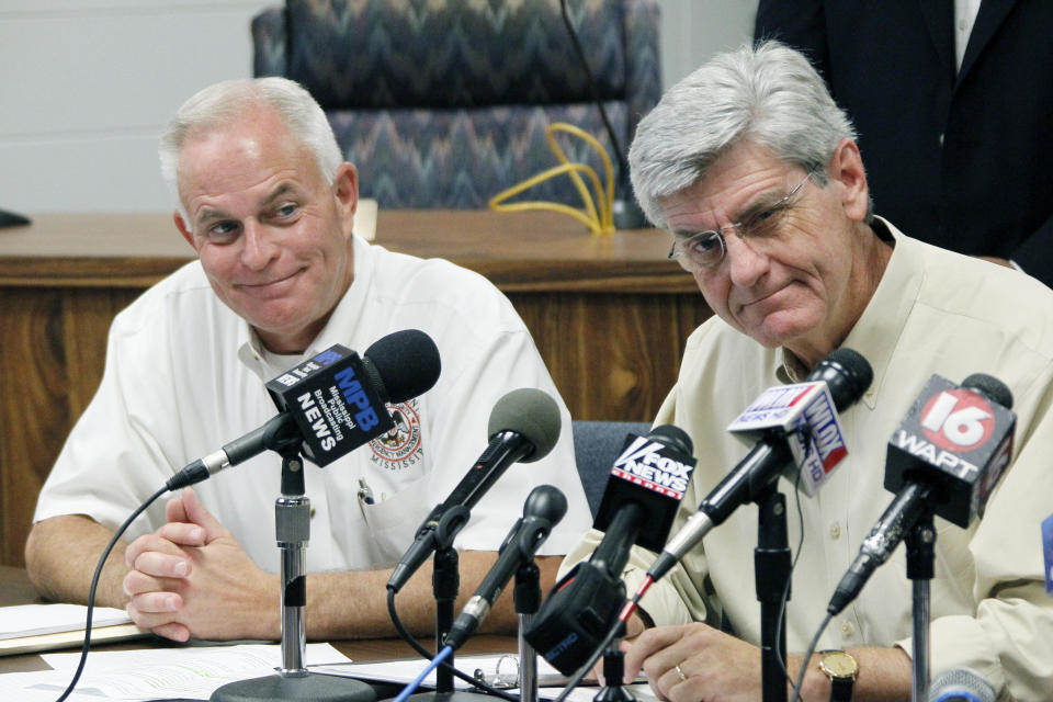
POLYGON ((958 387, 933 375, 888 441, 885 489, 896 494, 859 547, 826 611, 838 614, 928 510, 965 529, 1009 465, 1016 415, 1000 381, 975 373, 958 387))

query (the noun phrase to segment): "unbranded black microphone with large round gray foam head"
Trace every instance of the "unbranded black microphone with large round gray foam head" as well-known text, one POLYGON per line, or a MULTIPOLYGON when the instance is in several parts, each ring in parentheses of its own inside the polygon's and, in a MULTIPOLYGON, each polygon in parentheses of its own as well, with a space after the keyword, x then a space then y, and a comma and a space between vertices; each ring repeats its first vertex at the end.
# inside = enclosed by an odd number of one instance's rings
POLYGON ((387 580, 398 592, 421 564, 453 537, 468 521, 468 512, 517 461, 532 463, 548 455, 559 439, 559 407, 547 394, 534 388, 512 390, 497 400, 490 411, 490 443, 453 489, 437 505, 417 530, 412 545, 403 554, 387 580))

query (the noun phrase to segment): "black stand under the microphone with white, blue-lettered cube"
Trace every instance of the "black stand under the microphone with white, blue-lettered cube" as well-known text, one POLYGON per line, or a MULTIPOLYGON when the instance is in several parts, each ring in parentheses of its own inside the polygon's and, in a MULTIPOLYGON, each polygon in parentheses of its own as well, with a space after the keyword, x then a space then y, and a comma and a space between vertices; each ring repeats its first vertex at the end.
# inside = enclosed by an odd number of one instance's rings
POLYGON ((782 593, 790 600, 792 561, 786 537, 786 498, 774 482, 754 500, 757 513, 757 548, 754 579, 760 602, 760 681, 763 702, 786 700, 786 626, 782 593))

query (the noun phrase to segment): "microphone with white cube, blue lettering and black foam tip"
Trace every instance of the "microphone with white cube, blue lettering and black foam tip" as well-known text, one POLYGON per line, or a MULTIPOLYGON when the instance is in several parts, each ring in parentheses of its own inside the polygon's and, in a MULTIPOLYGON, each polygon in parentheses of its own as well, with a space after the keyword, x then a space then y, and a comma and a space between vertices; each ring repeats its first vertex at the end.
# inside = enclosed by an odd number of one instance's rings
POLYGON ((813 458, 801 465, 802 484, 811 484, 813 491, 817 489, 848 453, 837 412, 856 404, 872 380, 873 370, 867 359, 852 349, 841 348, 819 361, 804 383, 761 393, 729 427, 758 437, 757 443, 669 540, 647 576, 657 580, 668 573, 710 530, 756 498, 780 473, 796 479, 795 458, 801 461, 804 454, 813 458))

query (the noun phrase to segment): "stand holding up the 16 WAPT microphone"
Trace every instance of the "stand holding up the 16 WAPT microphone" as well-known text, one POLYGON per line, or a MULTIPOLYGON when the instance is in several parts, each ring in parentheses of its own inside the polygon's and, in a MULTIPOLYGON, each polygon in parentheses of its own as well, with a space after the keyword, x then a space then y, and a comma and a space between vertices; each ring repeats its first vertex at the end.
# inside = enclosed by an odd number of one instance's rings
POLYGON ((936 574, 936 526, 932 508, 918 517, 904 537, 907 547, 907 578, 910 579, 914 608, 914 683, 912 702, 924 702, 929 691, 929 582, 936 574))

